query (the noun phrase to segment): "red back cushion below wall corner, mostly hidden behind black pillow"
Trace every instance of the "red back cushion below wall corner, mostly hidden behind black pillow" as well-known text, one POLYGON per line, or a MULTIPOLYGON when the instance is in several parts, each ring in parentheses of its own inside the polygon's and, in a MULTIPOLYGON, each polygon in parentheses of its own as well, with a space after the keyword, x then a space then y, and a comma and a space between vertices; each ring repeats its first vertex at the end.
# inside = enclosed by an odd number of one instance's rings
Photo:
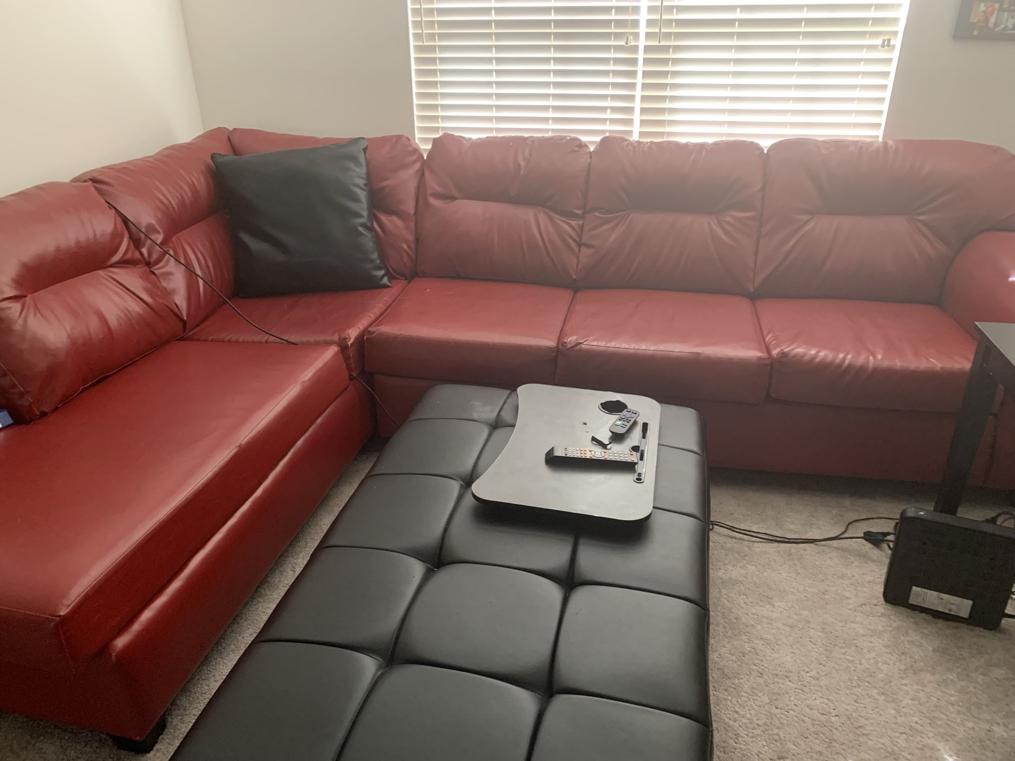
MULTIPOLYGON (((311 137, 235 129, 229 142, 238 156, 287 148, 344 143, 348 137, 311 137)), ((366 169, 378 248, 395 277, 412 277, 416 265, 416 196, 423 175, 423 153, 405 135, 366 138, 366 169)))

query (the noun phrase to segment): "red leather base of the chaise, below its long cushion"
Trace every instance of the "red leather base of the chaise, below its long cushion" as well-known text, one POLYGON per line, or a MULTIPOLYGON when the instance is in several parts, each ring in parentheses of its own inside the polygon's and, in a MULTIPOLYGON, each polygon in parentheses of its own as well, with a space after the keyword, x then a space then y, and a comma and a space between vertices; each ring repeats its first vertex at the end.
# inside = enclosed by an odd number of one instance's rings
POLYGON ((0 710, 143 738, 373 428, 351 384, 264 483, 73 674, 0 659, 0 710))

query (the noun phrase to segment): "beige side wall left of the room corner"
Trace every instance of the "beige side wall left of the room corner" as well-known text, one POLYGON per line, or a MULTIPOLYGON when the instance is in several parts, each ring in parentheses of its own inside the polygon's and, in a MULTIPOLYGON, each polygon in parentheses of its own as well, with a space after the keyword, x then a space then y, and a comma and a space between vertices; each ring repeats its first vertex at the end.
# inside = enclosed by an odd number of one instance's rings
POLYGON ((0 0, 0 195, 201 131, 179 0, 0 0))

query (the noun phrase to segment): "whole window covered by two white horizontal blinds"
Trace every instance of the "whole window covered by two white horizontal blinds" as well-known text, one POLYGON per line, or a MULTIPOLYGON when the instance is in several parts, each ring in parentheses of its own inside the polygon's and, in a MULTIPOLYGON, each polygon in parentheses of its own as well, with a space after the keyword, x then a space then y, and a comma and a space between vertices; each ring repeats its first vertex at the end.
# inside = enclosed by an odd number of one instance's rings
POLYGON ((876 139, 906 6, 409 0, 416 138, 876 139))

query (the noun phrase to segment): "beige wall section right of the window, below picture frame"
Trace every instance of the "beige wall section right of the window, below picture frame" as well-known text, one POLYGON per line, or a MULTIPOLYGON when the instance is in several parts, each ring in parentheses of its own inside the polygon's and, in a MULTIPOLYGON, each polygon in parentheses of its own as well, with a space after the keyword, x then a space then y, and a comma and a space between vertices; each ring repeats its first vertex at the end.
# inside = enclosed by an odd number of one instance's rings
POLYGON ((910 0, 886 139, 959 138, 1015 150, 1015 43, 952 40, 959 0, 910 0))

